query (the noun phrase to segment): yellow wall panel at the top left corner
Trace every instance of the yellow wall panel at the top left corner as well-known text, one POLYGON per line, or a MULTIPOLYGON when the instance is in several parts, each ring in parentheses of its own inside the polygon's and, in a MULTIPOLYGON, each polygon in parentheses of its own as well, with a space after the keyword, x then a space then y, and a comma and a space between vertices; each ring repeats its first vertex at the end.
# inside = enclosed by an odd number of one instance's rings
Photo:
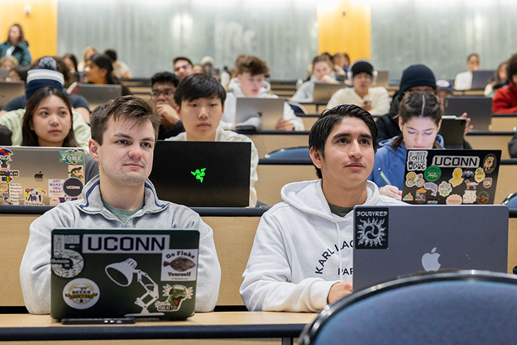
POLYGON ((0 0, 0 41, 19 23, 29 42, 32 61, 57 53, 57 0, 0 0), (26 14, 25 9, 30 9, 26 14))

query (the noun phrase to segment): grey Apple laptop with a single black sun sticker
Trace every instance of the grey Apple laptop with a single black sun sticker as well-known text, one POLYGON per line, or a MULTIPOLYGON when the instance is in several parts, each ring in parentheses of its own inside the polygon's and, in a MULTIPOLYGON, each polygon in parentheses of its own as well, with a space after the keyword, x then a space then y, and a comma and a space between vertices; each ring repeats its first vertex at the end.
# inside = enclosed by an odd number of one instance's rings
POLYGON ((354 292, 412 273, 506 273, 507 251, 505 205, 354 208, 354 292))

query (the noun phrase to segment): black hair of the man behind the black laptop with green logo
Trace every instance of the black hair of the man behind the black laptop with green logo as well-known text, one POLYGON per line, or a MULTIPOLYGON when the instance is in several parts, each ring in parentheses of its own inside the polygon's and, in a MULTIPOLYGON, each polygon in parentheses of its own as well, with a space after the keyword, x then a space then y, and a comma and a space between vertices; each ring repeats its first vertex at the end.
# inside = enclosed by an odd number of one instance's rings
POLYGON ((200 98, 219 98, 223 105, 226 100, 226 91, 217 79, 203 73, 194 73, 181 79, 174 92, 176 104, 181 108, 181 101, 190 102, 200 98))

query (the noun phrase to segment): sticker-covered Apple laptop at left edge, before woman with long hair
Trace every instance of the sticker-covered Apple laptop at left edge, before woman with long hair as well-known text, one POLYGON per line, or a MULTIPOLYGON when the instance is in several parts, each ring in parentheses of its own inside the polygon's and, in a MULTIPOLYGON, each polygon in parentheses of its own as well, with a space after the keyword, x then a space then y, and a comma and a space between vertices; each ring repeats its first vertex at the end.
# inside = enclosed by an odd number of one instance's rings
POLYGON ((82 199, 82 148, 0 146, 0 204, 55 206, 82 199))

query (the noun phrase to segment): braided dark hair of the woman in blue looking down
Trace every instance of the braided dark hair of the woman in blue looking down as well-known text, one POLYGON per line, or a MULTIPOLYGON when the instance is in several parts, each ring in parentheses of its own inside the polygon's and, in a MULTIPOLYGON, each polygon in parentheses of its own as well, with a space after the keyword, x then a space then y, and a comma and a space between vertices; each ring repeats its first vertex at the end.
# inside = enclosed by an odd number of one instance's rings
MULTIPOLYGON (((440 99, 427 91, 416 91, 407 93, 399 106, 398 116, 401 117, 402 123, 405 124, 412 117, 429 117, 434 121, 436 126, 442 119, 443 110, 440 99)), ((404 140, 403 133, 398 135, 392 141, 392 148, 395 150, 401 145, 404 140)), ((441 148, 435 141, 433 148, 441 148)))

